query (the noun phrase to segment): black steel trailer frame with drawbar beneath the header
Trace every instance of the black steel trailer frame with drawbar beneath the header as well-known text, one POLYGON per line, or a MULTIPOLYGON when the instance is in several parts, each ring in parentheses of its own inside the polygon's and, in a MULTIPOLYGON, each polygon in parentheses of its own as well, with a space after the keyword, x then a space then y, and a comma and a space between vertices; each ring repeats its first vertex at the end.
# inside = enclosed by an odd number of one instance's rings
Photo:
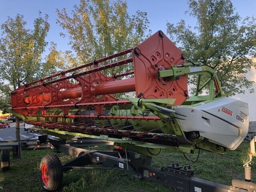
MULTIPOLYGON (((98 151, 66 145, 65 139, 49 139, 55 152, 63 152, 75 158, 61 164, 63 172, 71 169, 111 169, 132 174, 134 178, 151 180, 180 192, 252 192, 256 184, 232 180, 232 186, 215 183, 194 177, 190 165, 180 166, 172 163, 167 167, 151 166, 152 157, 140 154, 139 158, 122 158, 119 151, 98 151), (87 165, 96 164, 91 167, 87 165), (102 166, 99 166, 102 165, 102 166)), ((124 149, 126 152, 126 149, 124 149)), ((126 155, 127 156, 127 155, 126 155)))

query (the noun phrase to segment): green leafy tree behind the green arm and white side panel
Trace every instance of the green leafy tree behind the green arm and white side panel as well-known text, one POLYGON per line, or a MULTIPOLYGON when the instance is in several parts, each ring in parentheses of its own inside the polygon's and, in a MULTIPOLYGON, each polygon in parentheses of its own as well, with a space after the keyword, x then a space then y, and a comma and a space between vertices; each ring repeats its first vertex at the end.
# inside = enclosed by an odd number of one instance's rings
MULTIPOLYGON (((189 0, 190 16, 197 19, 194 30, 181 20, 177 25, 167 23, 167 33, 179 44, 188 59, 201 61, 218 74, 226 95, 250 92, 252 81, 246 73, 255 66, 256 53, 255 18, 242 20, 230 0, 189 0)), ((192 83, 195 78, 190 77, 192 83)))

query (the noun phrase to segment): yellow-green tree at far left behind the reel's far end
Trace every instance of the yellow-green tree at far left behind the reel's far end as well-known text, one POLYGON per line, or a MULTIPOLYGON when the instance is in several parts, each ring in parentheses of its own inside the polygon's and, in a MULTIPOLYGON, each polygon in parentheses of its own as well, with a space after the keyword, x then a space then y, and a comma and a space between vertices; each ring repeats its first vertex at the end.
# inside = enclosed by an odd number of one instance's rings
MULTIPOLYGON (((34 29, 26 29, 23 16, 8 17, 1 25, 0 38, 0 108, 10 106, 10 92, 44 76, 42 53, 47 46, 48 16, 34 20, 34 29)), ((16 117, 16 139, 20 140, 19 117, 16 117)))

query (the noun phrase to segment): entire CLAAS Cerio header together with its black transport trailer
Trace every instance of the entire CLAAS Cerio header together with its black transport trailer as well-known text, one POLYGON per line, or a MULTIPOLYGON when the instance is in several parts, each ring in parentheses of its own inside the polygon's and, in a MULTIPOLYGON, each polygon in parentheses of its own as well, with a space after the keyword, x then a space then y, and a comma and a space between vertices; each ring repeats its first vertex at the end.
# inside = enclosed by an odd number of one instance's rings
POLYGON ((42 159, 40 179, 48 191, 61 188, 63 171, 73 168, 122 170, 179 191, 256 190, 248 178, 230 187, 194 178, 190 166, 150 166, 161 150, 235 150, 249 126, 248 104, 225 97, 214 70, 186 60, 162 31, 134 48, 25 84, 11 99, 12 114, 59 137, 48 140, 51 147, 76 157, 65 164, 57 156, 42 159), (197 79, 193 95, 188 75, 197 79), (135 97, 121 99, 126 92, 135 97), (75 136, 113 141, 116 151, 65 145, 75 136), (103 166, 86 167, 93 163, 103 166))

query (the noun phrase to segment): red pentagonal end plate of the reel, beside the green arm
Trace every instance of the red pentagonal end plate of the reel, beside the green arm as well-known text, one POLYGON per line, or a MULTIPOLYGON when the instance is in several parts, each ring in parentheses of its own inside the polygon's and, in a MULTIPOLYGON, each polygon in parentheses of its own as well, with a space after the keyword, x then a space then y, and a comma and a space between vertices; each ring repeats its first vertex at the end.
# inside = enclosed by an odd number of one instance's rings
POLYGON ((187 75, 172 81, 170 78, 159 79, 157 71, 183 64, 182 52, 161 31, 142 42, 134 51, 137 51, 133 54, 136 95, 141 93, 145 99, 172 98, 176 99, 175 105, 181 105, 187 99, 184 96, 188 90, 187 75))

